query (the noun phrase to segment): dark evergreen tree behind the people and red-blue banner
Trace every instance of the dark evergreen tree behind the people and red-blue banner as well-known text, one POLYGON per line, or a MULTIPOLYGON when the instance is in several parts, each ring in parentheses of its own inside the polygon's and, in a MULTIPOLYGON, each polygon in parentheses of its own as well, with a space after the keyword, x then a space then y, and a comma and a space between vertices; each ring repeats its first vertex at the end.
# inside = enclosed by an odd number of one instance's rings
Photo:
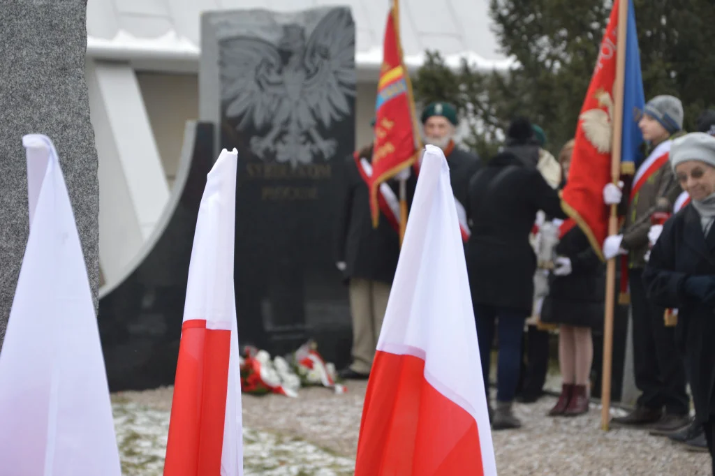
MULTIPOLYGON (((684 104, 685 128, 715 104, 715 2, 632 0, 641 48, 646 100, 673 94, 684 104)), ((463 63, 456 71, 428 51, 414 81, 420 104, 453 102, 477 127, 465 140, 490 157, 502 131, 517 115, 546 131, 547 148, 558 149, 576 130, 578 114, 611 13, 603 0, 490 0, 490 16, 503 54, 516 60, 510 71, 478 71, 463 63)))

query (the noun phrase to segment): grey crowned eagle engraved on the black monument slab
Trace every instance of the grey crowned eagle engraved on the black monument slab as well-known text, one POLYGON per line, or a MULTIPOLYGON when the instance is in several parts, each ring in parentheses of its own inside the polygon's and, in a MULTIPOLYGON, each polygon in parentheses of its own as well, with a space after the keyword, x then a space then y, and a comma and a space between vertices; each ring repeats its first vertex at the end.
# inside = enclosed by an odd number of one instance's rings
POLYGON ((351 114, 354 30, 350 11, 333 9, 307 39, 302 26, 287 24, 277 45, 247 36, 222 41, 225 114, 237 119, 237 130, 255 127, 250 147, 257 157, 293 167, 332 159, 337 142, 320 129, 351 114))

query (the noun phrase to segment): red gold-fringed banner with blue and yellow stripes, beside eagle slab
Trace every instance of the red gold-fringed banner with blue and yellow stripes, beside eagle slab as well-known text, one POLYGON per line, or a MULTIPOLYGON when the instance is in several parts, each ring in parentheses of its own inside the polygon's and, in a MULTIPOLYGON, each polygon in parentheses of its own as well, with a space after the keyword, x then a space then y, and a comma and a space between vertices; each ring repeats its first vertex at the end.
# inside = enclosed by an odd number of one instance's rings
POLYGON ((398 1, 393 0, 385 28, 383 66, 375 104, 375 147, 370 184, 370 211, 375 227, 380 219, 380 184, 412 166, 422 149, 410 77, 403 64, 398 19, 398 1))

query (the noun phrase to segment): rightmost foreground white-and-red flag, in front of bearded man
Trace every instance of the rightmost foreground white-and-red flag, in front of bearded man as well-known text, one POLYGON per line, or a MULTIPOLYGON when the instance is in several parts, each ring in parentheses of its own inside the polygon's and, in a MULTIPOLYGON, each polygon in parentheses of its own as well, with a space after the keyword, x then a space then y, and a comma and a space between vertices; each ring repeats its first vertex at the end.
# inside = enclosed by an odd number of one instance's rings
POLYGON ((449 167, 430 145, 370 371, 355 475, 496 475, 449 167))

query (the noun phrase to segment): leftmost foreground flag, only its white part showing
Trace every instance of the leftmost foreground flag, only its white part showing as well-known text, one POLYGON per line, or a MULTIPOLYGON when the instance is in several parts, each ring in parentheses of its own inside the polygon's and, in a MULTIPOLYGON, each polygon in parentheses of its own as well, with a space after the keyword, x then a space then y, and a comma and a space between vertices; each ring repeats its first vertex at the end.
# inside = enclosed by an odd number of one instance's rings
POLYGON ((23 137, 30 234, 0 352, 0 474, 120 476, 87 267, 54 145, 23 137))

